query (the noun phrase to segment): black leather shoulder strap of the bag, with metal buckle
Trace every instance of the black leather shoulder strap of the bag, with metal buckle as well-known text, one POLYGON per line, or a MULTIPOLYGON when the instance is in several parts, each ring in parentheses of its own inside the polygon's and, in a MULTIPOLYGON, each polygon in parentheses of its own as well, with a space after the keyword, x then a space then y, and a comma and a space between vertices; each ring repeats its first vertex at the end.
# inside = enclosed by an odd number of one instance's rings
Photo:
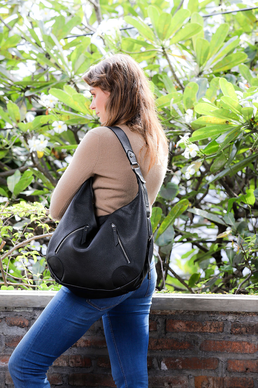
MULTIPOLYGON (((149 199, 148 199, 148 192, 146 189, 146 180, 144 180, 143 175, 141 173, 140 165, 137 163, 136 156, 134 155, 134 152, 132 151, 131 144, 129 142, 129 139, 126 135, 126 133, 119 127, 119 126, 108 126, 115 135, 117 135, 118 139, 120 140, 120 143, 122 144, 122 147, 124 148, 124 151, 126 152, 126 156, 131 164, 132 170, 134 171, 137 180, 140 180, 140 184, 143 188, 143 194, 144 194, 144 200, 146 205, 146 212, 147 212, 147 218, 150 217, 150 210, 149 210, 149 199), (133 167, 134 165, 138 165, 138 167, 133 167)), ((139 182, 138 180, 138 182, 139 182)))

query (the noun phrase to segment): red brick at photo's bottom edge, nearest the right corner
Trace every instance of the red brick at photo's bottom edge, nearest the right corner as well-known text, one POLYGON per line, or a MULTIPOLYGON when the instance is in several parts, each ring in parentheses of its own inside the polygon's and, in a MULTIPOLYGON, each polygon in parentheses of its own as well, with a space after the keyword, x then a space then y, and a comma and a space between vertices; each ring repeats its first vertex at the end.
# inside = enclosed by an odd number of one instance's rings
POLYGON ((252 378, 194 376, 194 388, 253 388, 253 386, 252 378))

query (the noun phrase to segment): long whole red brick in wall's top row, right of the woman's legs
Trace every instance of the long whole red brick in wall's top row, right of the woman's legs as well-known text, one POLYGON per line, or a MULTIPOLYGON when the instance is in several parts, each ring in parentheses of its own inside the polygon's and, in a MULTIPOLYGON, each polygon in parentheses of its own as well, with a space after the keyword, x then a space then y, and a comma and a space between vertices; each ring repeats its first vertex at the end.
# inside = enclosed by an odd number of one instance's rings
POLYGON ((167 319, 166 331, 184 331, 192 333, 222 333, 224 323, 216 320, 207 320, 205 322, 195 320, 177 320, 167 319))

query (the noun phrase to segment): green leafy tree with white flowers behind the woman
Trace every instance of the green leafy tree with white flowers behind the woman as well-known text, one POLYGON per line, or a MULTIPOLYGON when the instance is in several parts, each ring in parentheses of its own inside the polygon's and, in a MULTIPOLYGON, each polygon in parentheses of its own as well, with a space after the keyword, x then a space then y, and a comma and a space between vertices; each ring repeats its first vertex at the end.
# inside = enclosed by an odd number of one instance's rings
POLYGON ((150 78, 170 138, 172 171, 151 217, 158 291, 258 293, 257 10, 217 0, 1 4, 3 287, 58 289, 44 257, 50 197, 99 125, 81 75, 124 52, 150 78))

